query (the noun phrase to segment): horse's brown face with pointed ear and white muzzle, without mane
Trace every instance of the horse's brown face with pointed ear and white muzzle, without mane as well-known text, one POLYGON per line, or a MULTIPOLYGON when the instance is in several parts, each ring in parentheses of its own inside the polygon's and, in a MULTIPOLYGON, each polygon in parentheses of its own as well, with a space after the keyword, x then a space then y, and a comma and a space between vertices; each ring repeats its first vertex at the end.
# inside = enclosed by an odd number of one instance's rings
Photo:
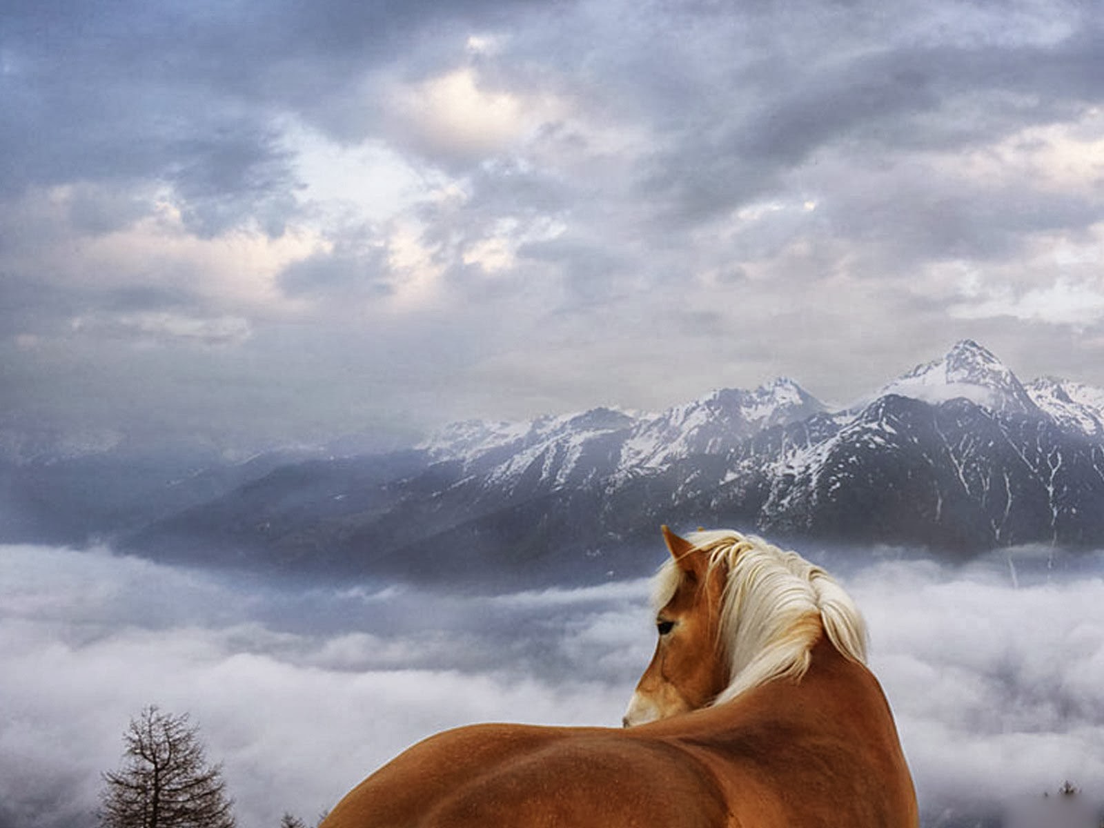
POLYGON ((718 646, 724 573, 667 527, 664 540, 671 561, 657 581, 659 641, 625 713, 626 728, 703 708, 729 683, 718 646))

